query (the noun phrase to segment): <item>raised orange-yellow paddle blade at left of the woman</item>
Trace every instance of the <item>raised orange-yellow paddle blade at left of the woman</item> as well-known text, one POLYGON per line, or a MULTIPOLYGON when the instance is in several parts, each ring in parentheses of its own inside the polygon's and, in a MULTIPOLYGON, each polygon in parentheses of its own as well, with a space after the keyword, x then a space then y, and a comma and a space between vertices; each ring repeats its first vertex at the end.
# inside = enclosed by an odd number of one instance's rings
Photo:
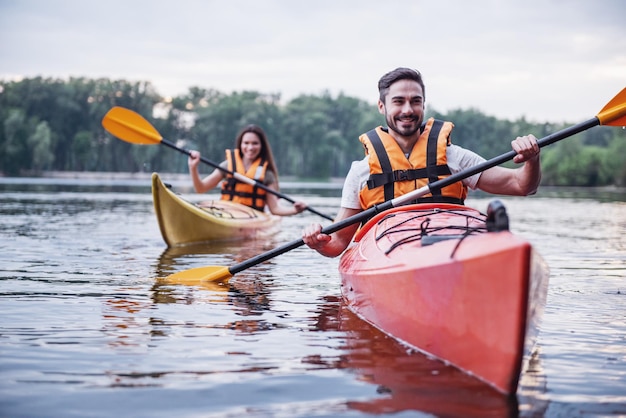
POLYGON ((111 135, 132 144, 154 145, 163 139, 143 116, 120 106, 111 108, 104 115, 102 126, 111 135))

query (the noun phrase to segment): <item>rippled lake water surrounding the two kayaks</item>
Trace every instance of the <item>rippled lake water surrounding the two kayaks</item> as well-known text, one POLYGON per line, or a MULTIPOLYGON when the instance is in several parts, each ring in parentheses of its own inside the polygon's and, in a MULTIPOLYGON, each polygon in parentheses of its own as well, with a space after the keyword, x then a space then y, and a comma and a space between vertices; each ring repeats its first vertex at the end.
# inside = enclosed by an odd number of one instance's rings
MULTIPOLYGON (((336 187, 286 186, 334 215, 336 187)), ((166 250, 147 179, 0 178, 0 416, 626 417, 626 191, 501 200, 551 268, 513 399, 354 317, 338 260, 308 248, 226 286, 162 280, 298 239, 314 214, 268 240, 166 250)))

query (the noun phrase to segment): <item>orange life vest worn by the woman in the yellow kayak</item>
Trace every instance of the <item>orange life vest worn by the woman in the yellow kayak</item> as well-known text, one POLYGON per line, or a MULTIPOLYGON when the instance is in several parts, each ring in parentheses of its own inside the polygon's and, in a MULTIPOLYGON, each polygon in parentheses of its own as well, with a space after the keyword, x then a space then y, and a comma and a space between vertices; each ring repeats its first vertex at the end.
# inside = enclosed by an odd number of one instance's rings
MULTIPOLYGON (((246 171, 239 150, 226 150, 226 161, 228 170, 243 174, 259 183, 265 180, 267 171, 267 161, 257 158, 246 171)), ((241 203, 256 210, 265 209, 265 190, 251 184, 237 181, 231 174, 227 174, 222 182, 222 200, 231 200, 241 203)))

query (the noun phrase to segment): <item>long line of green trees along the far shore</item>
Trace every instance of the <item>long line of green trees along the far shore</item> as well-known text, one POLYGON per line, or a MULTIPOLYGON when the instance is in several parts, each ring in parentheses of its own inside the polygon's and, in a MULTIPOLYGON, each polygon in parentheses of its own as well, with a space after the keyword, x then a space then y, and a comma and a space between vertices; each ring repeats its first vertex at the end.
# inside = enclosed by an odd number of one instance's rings
MULTIPOLYGON (((201 87, 164 98, 149 82, 106 78, 0 81, 0 175, 187 171, 180 153, 108 134, 101 122, 113 106, 138 112, 164 138, 214 162, 224 159, 224 149, 233 147, 243 126, 255 123, 268 135, 280 175, 302 180, 344 177, 351 162, 363 157, 359 135, 384 124, 374 104, 327 92, 283 104, 279 94, 224 94, 201 87)), ((453 142, 485 158, 509 151, 516 136, 541 138, 569 126, 502 120, 476 109, 429 109, 427 116, 452 121, 453 142)), ((596 127, 544 148, 542 184, 626 185, 625 139, 622 129, 596 127)))

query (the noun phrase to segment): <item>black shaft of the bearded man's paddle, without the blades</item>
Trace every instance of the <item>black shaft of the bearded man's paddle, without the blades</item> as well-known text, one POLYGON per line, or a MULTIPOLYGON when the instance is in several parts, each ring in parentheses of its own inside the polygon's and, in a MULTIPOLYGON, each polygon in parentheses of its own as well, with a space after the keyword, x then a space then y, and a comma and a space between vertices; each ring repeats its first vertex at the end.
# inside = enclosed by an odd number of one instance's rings
MULTIPOLYGON (((597 117, 594 117, 592 119, 589 119, 588 121, 585 122, 581 122, 577 125, 574 126, 570 126, 568 128, 565 128, 563 130, 560 130, 558 132, 555 132, 551 135, 548 135, 544 138, 541 138, 537 141, 537 145, 539 145, 539 147, 545 147, 546 145, 550 145, 553 144, 557 141, 560 141, 562 139, 568 138, 572 135, 575 135, 577 133, 580 133, 582 131, 585 131, 589 128, 592 128, 596 125, 599 125, 600 121, 597 117)), ((322 228, 322 233, 323 234, 332 234, 333 232, 337 232, 343 228, 346 228, 350 225, 353 225, 355 223, 358 222, 363 222, 366 219, 369 219, 371 217, 373 217, 374 215, 376 215, 377 213, 389 210, 391 208, 394 208, 396 206, 400 206, 403 204, 406 204, 412 200, 415 200, 419 197, 422 197, 424 195, 427 195, 428 193, 431 193, 435 190, 439 190, 443 187, 449 186, 451 184, 456 183, 457 181, 461 181, 467 177, 471 177, 474 174, 478 174, 481 173, 489 168, 495 167, 497 165, 500 165, 506 161, 512 160, 515 155, 517 155, 517 153, 514 150, 511 150, 505 154, 502 154, 498 157, 494 157, 490 160, 484 161, 481 164, 477 164, 472 168, 468 168, 467 170, 463 170, 463 171, 459 171, 458 173, 452 174, 451 176, 448 176, 444 179, 441 180, 437 180, 435 182, 432 182, 430 184, 428 184, 427 186, 424 187, 420 187, 419 189, 415 189, 412 192, 409 192, 405 195, 402 195, 400 197, 397 197, 395 199, 392 200, 388 200, 386 202, 380 203, 378 205, 374 205, 371 208, 357 213, 356 215, 350 216, 349 218, 346 218, 342 221, 336 222, 332 225, 329 225, 325 228, 322 228)), ((263 254, 259 254, 255 257, 250 258, 249 260, 246 260, 244 262, 241 262, 239 264, 235 264, 234 266, 231 266, 228 268, 228 271, 230 272, 231 275, 235 275, 243 270, 246 270, 252 266, 255 266, 257 264, 260 264, 264 261, 267 261, 271 258, 274 258, 278 255, 281 255, 283 253, 286 253, 288 251, 291 251, 293 249, 296 249, 300 246, 304 245, 304 241, 302 239, 296 240, 296 241, 292 241, 289 242, 287 244, 284 244, 280 247, 277 247, 273 250, 267 251, 263 254)))

